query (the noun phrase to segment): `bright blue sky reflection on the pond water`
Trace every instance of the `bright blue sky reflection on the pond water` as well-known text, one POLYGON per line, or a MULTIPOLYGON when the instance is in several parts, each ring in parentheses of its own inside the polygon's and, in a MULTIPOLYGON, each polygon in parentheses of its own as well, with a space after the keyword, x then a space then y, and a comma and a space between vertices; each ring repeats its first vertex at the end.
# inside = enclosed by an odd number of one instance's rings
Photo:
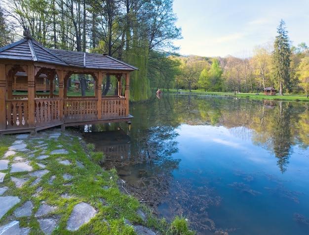
MULTIPOLYGON (((306 221, 295 218, 295 213, 309 218, 308 149, 295 146, 282 174, 268 150, 250 138, 235 137, 234 131, 181 125, 179 151, 173 155, 181 159, 179 170, 173 172, 175 181, 206 178, 222 197, 219 206, 209 207, 208 216, 230 235, 308 235, 306 221)), ((247 132, 250 137, 252 132, 247 132)))

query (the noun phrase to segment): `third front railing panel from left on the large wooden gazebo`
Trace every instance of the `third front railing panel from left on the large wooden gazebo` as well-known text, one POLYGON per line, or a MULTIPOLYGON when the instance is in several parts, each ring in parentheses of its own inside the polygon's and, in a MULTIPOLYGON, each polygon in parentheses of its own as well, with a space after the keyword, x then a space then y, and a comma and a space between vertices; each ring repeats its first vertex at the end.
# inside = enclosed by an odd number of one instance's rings
POLYGON ((63 101, 63 116, 65 123, 77 121, 92 121, 97 119, 98 99, 70 98, 63 101))

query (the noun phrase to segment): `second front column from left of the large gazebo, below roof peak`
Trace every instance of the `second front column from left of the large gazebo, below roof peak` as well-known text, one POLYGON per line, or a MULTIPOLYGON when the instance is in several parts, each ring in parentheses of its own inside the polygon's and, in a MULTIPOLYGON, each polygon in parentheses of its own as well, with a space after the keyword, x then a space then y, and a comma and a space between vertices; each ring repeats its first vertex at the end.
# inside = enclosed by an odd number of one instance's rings
POLYGON ((36 84, 35 84, 35 67, 28 65, 28 125, 29 127, 36 126, 36 84))

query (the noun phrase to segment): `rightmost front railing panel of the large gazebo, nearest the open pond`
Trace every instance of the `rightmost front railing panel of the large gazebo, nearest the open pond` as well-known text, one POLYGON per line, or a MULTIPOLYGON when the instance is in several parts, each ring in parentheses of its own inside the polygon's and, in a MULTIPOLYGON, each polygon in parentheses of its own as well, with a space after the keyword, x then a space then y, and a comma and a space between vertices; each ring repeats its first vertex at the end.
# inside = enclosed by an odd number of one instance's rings
POLYGON ((102 97, 102 112, 103 119, 113 119, 125 117, 126 100, 125 97, 102 97), (104 98, 103 98, 104 97, 104 98))

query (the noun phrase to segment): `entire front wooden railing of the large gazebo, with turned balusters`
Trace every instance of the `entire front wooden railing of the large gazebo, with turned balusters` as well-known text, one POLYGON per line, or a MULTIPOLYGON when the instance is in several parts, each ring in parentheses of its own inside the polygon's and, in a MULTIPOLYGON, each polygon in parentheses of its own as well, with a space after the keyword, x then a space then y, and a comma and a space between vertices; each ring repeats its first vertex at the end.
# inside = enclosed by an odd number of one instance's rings
POLYGON ((97 98, 35 98, 35 113, 29 113, 29 100, 23 97, 14 95, 14 99, 6 100, 6 129, 42 130, 53 125, 80 125, 91 121, 126 118, 126 99, 121 96, 102 96, 100 119, 97 98), (35 123, 29 123, 29 115, 35 116, 35 123))

